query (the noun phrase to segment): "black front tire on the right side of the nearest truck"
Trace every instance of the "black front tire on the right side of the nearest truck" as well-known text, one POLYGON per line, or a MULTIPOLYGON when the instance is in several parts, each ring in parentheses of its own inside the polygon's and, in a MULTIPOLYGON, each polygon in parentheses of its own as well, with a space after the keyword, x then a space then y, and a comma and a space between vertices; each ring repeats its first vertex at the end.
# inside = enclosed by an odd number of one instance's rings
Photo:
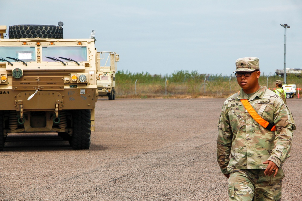
POLYGON ((72 136, 69 143, 73 149, 89 149, 91 134, 90 110, 72 111, 72 136))

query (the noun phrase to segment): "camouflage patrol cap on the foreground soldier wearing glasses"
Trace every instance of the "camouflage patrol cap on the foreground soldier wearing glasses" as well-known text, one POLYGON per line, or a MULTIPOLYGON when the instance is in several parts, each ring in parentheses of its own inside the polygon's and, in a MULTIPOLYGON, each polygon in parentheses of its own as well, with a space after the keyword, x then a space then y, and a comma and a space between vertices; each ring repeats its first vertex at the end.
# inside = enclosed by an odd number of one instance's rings
POLYGON ((259 58, 257 57, 244 57, 236 60, 235 72, 252 72, 259 70, 259 58))

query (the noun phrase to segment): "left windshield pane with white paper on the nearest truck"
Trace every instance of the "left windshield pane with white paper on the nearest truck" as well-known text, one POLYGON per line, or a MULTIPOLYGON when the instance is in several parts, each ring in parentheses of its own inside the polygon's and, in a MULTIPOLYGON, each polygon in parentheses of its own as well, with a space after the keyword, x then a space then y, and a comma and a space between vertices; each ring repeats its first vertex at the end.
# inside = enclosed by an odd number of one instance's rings
MULTIPOLYGON (((7 59, 7 57, 17 58, 22 61, 36 61, 35 47, 0 47, 0 57, 7 59)), ((7 59, 11 60, 11 59, 7 59)), ((15 62, 14 60, 11 60, 15 62)))

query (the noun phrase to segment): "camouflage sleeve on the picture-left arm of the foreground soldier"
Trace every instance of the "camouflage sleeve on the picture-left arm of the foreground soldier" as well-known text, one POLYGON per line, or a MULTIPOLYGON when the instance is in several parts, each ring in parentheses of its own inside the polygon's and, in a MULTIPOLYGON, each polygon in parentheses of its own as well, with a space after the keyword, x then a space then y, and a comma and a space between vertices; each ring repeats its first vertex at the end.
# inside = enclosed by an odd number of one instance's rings
POLYGON ((227 113, 227 101, 224 102, 218 122, 217 138, 217 162, 223 174, 228 174, 227 166, 230 162, 230 151, 232 146, 233 133, 227 113))

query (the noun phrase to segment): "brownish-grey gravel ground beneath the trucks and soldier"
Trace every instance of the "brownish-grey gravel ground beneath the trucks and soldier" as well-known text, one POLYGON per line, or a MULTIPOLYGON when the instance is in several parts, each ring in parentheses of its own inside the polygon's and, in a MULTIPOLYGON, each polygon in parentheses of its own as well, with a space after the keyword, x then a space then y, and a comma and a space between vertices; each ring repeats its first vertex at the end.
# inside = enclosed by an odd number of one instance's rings
MULTIPOLYGON (((89 150, 56 133, 10 134, 0 152, 0 200, 226 201, 216 162, 224 99, 98 100, 89 150)), ((301 99, 282 200, 302 200, 301 99)))

